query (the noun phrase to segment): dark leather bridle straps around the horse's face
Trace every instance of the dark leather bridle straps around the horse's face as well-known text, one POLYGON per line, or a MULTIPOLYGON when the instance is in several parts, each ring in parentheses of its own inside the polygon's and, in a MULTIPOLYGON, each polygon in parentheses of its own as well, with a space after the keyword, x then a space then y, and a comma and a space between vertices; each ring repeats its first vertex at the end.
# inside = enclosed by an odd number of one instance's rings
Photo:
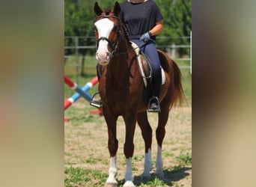
MULTIPOLYGON (((109 18, 109 17, 113 17, 115 19, 118 19, 117 16, 98 16, 98 18, 100 17, 103 17, 103 18, 109 18)), ((120 22, 120 20, 118 19, 118 22, 120 22)), ((96 49, 98 49, 99 47, 99 43, 100 43, 100 40, 106 40, 108 43, 109 43, 109 46, 111 46, 111 49, 112 49, 112 52, 111 52, 111 57, 114 57, 115 56, 115 52, 118 48, 118 41, 119 41, 119 37, 121 35, 121 29, 120 29, 120 23, 118 24, 118 33, 117 33, 117 37, 115 38, 115 42, 112 43, 112 41, 109 40, 109 38, 107 37, 100 37, 98 40, 97 40, 97 46, 96 46, 96 49)))

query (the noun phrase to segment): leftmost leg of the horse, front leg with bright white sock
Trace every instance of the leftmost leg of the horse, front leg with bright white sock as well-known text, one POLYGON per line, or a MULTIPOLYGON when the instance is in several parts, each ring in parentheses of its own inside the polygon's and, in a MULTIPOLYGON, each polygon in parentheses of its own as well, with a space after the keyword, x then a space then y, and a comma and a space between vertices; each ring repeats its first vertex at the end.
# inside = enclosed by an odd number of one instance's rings
POLYGON ((117 187, 118 182, 115 180, 116 175, 118 174, 117 168, 117 156, 116 153, 118 151, 118 140, 117 140, 117 124, 116 121, 118 120, 118 116, 114 116, 112 114, 107 114, 106 110, 104 111, 104 117, 108 126, 108 147, 109 147, 109 154, 110 154, 110 161, 109 161, 109 177, 106 180, 105 187, 117 187))

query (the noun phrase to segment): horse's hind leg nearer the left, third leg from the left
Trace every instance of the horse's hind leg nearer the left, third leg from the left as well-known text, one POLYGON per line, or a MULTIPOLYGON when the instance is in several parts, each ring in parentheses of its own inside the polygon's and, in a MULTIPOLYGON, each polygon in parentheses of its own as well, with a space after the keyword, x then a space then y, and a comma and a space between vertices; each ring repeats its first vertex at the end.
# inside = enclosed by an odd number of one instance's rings
POLYGON ((141 128, 142 138, 145 144, 145 156, 144 156, 144 172, 142 177, 147 179, 150 178, 150 171, 152 170, 152 159, 151 159, 151 144, 152 144, 152 129, 150 123, 147 120, 147 112, 141 112, 137 117, 138 126, 141 128))

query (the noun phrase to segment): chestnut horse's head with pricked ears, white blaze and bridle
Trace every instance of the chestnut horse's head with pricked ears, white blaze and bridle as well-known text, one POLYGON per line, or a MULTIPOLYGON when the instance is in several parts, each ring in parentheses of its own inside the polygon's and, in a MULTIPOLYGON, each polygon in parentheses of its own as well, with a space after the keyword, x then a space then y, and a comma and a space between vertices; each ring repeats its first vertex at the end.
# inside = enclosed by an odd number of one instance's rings
POLYGON ((118 2, 115 2, 113 10, 106 9, 103 11, 99 4, 95 2, 94 13, 97 14, 95 25, 95 37, 97 41, 97 61, 106 66, 109 64, 114 55, 121 32, 120 21, 118 16, 121 12, 121 7, 118 2))

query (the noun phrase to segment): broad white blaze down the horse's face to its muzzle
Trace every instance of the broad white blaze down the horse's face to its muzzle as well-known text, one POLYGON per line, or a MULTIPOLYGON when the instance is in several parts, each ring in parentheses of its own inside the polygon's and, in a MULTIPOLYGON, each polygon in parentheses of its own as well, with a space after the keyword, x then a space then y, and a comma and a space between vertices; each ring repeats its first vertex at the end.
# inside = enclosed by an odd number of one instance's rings
MULTIPOLYGON (((106 37, 109 39, 109 34, 114 28, 114 22, 110 21, 109 19, 100 19, 99 21, 94 23, 95 27, 97 28, 99 38, 106 37)), ((96 52, 97 61, 102 64, 106 65, 109 64, 109 49, 108 49, 108 41, 100 40, 99 46, 96 52)))

